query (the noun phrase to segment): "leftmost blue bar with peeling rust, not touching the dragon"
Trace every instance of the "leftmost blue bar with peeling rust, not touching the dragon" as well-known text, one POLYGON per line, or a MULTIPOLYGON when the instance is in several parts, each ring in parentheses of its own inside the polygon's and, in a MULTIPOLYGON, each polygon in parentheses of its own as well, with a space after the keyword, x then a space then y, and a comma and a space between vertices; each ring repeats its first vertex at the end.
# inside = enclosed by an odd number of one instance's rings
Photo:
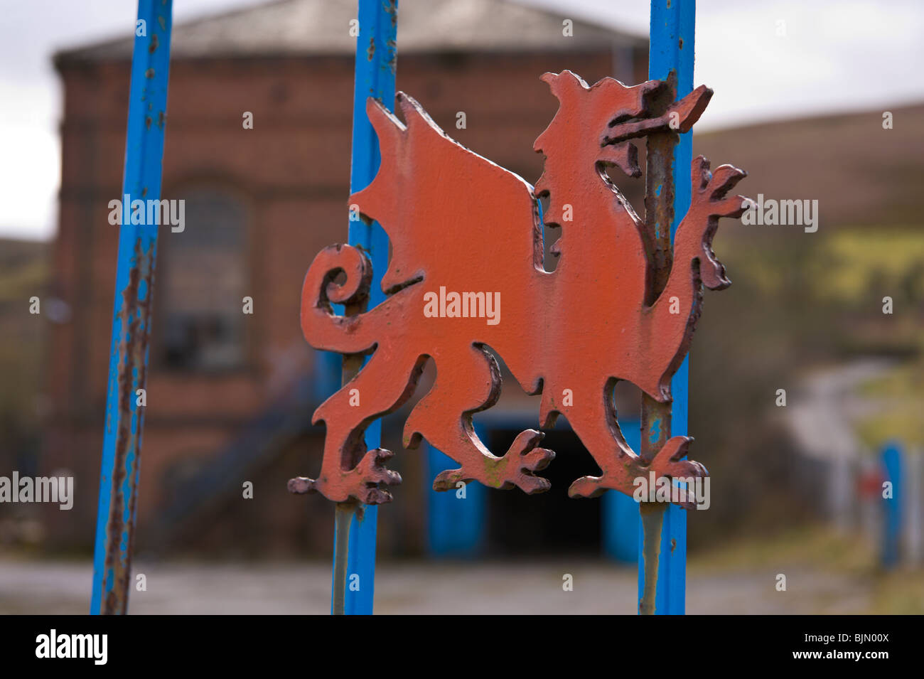
MULTIPOLYGON (((144 409, 138 406, 137 390, 144 389, 146 383, 157 225, 126 223, 131 202, 128 205, 125 202, 155 200, 161 195, 172 12, 172 0, 138 3, 125 172, 119 197, 123 201, 123 224, 118 238, 91 614, 128 610, 144 424, 144 409)), ((147 215, 143 208, 141 213, 147 215)))

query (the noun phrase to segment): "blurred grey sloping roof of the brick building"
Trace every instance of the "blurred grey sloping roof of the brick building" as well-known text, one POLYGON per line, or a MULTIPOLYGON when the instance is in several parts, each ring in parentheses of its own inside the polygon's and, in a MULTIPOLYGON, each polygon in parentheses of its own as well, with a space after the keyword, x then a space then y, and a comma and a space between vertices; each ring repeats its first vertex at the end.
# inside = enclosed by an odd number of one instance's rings
MULTIPOLYGON (((566 53, 648 44, 646 37, 634 31, 588 18, 573 19, 577 37, 559 38, 553 29, 561 32, 564 15, 547 7, 510 0, 426 2, 403 0, 400 11, 409 20, 398 24, 399 55, 566 53), (547 37, 550 34, 552 37, 547 37)), ((191 18, 174 25, 171 58, 352 56, 356 42, 348 37, 347 30, 349 19, 355 16, 355 4, 355 0, 272 0, 191 18), (293 30, 293 24, 310 29, 293 30), (332 30, 341 24, 342 32, 332 30)), ((70 65, 128 61, 133 44, 132 37, 122 37, 66 47, 55 52, 53 62, 60 71, 70 65)))

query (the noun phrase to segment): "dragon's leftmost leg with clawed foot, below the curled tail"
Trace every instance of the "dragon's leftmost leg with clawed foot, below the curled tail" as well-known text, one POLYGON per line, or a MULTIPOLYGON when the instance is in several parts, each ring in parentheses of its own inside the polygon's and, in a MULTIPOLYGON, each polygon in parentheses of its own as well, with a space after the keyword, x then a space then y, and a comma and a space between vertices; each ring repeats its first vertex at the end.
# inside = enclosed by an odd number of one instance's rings
POLYGON ((397 472, 385 468, 394 454, 383 448, 367 451, 364 434, 374 419, 410 398, 425 362, 426 357, 373 354, 356 377, 315 411, 314 423, 324 422, 327 427, 321 474, 317 479, 291 479, 289 491, 318 491, 335 502, 351 498, 366 504, 391 502, 392 494, 379 486, 401 482, 397 472))

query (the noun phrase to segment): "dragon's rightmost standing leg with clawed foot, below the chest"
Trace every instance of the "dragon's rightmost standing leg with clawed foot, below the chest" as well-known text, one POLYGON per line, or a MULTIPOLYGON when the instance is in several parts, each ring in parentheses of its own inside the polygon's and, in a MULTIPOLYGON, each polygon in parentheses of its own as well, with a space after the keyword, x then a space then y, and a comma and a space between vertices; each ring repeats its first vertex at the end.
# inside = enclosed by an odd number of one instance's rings
POLYGON ((602 388, 579 389, 579 385, 575 385, 578 388, 574 390, 574 406, 556 406, 602 469, 602 476, 581 477, 572 483, 568 489, 571 497, 596 497, 607 489, 632 495, 636 489, 635 480, 648 479, 652 471, 656 479, 709 476, 706 467, 699 462, 681 459, 687 455, 692 441, 687 436, 668 440, 649 464, 636 455, 616 422, 614 385, 614 380, 602 388))

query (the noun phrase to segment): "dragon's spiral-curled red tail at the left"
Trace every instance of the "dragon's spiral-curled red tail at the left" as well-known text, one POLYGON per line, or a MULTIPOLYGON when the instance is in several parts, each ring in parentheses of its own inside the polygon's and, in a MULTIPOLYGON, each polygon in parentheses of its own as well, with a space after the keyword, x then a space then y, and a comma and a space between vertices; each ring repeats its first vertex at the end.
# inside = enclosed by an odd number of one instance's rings
POLYGON ((318 253, 301 288, 301 330, 310 346, 340 354, 371 350, 374 328, 367 314, 359 313, 369 298, 371 279, 371 261, 359 248, 338 244, 318 253), (336 279, 341 274, 346 280, 339 282, 336 279), (357 313, 337 316, 332 303, 357 313))

